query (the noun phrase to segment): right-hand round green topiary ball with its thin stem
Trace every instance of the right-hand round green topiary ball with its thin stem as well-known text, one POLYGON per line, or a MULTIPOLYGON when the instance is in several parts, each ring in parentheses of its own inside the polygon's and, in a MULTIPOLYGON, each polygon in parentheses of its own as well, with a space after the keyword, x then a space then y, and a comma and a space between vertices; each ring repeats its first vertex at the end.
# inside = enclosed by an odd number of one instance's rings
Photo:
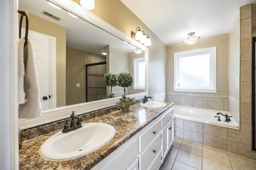
POLYGON ((132 86, 133 83, 133 76, 129 71, 120 72, 117 76, 117 85, 124 88, 124 95, 125 95, 125 88, 132 86))

